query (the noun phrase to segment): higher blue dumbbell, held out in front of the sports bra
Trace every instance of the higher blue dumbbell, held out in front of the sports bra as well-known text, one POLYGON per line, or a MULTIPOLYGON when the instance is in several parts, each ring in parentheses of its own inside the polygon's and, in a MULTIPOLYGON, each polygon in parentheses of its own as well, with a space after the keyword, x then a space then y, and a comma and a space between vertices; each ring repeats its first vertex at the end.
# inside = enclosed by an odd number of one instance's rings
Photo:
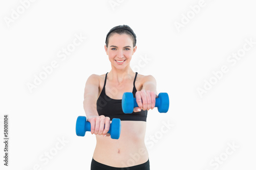
MULTIPOLYGON (((136 98, 133 97, 133 93, 125 92, 122 98, 122 109, 124 113, 132 113, 133 109, 138 107, 136 98)), ((156 98, 156 106, 160 113, 166 113, 169 109, 169 96, 167 93, 159 93, 156 98)))

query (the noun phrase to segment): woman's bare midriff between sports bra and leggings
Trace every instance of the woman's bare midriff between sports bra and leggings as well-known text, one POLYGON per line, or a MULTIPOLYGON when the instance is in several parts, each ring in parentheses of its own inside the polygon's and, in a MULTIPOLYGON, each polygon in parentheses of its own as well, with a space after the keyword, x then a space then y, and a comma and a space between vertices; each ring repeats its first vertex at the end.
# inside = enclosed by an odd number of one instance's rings
POLYGON ((119 139, 96 135, 97 143, 93 159, 113 167, 129 167, 145 163, 148 153, 145 147, 146 122, 121 121, 119 139))

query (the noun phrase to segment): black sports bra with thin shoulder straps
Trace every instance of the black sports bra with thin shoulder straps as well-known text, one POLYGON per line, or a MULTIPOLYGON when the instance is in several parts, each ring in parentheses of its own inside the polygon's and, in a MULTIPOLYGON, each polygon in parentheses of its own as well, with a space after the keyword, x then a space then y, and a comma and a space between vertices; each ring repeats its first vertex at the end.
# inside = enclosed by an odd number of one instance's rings
MULTIPOLYGON (((133 82, 133 96, 135 98, 135 93, 137 89, 135 88, 135 80, 138 72, 136 72, 134 82, 133 82)), ((106 76, 108 72, 106 73, 106 76)), ((122 100, 121 99, 111 99, 105 93, 106 76, 104 81, 104 86, 97 100, 97 111, 99 116, 104 115, 113 118, 120 118, 121 120, 133 120, 133 121, 144 121, 146 122, 147 110, 141 110, 140 112, 133 112, 131 114, 125 114, 122 110, 122 100)))

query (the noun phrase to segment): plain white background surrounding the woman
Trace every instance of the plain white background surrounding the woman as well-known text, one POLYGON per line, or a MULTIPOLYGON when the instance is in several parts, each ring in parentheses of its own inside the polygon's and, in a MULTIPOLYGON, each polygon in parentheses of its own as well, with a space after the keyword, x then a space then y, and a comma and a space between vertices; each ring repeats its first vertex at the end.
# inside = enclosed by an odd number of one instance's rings
POLYGON ((199 1, 110 2, 116 0, 35 1, 8 27, 5 18, 21 3, 1 1, 1 141, 4 114, 10 118, 9 166, 3 165, 1 142, 1 169, 90 169, 95 136, 76 136, 75 122, 85 115, 88 77, 111 69, 105 36, 123 24, 137 35, 131 66, 135 68, 141 57, 149 58, 135 71, 153 75, 158 92, 170 98, 168 113, 148 112, 146 139, 158 138, 147 145, 151 169, 255 169, 256 44, 236 64, 227 61, 243 48, 245 39, 256 41, 253 1, 205 0, 179 31, 175 22, 182 23, 199 1), (86 40, 61 61, 58 52, 75 34, 86 40), (54 60, 58 67, 31 93, 27 83, 54 60), (223 65, 229 71, 201 98, 197 89, 223 65), (162 133, 163 122, 174 126, 162 133), (52 159, 39 159, 53 152, 62 138, 68 143, 52 159), (228 143, 239 148, 225 157, 228 143), (220 156, 225 160, 218 167, 210 165, 220 156))

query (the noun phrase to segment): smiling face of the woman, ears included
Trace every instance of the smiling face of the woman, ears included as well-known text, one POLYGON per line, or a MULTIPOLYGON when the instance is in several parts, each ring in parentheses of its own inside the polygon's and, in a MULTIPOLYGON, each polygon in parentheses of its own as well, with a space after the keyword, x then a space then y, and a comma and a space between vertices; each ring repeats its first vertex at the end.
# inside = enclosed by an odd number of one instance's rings
POLYGON ((130 66, 130 61, 136 48, 137 46, 133 47, 133 40, 130 35, 114 34, 109 38, 108 47, 105 45, 105 52, 109 56, 112 66, 123 69, 130 66))

